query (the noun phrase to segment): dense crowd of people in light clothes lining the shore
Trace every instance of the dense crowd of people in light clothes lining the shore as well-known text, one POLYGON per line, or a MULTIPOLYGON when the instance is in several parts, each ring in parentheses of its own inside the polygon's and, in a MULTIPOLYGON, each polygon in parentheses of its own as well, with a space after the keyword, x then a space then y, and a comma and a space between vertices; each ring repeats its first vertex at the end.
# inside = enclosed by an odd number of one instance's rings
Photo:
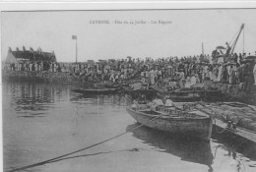
POLYGON ((163 85, 163 79, 169 78, 170 88, 189 87, 204 81, 223 82, 230 85, 244 84, 248 88, 256 81, 255 62, 245 60, 245 53, 231 54, 228 58, 220 54, 187 57, 167 57, 153 59, 131 58, 109 59, 87 63, 48 63, 20 62, 5 64, 5 70, 11 71, 49 71, 70 73, 84 78, 85 81, 120 82, 141 78, 143 84, 163 85))

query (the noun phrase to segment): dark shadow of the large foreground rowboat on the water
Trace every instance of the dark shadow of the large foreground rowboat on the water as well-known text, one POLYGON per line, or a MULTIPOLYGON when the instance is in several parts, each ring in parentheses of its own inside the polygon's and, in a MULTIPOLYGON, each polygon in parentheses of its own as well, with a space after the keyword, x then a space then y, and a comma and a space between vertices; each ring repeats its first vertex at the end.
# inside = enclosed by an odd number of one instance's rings
MULTIPOLYGON (((138 123, 129 125, 126 131, 131 131, 138 126, 138 123)), ((132 133, 135 138, 159 148, 159 151, 178 156, 184 161, 207 165, 209 171, 213 171, 214 156, 209 142, 200 142, 186 137, 182 138, 147 127, 141 127, 132 131, 132 133)))

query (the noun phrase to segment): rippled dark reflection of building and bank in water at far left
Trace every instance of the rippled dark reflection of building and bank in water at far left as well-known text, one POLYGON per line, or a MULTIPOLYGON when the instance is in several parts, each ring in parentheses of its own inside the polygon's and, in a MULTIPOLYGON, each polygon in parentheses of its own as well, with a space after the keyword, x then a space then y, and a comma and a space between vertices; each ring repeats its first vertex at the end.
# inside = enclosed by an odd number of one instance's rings
MULTIPOLYGON (((9 100, 19 117, 43 117, 43 111, 54 107, 55 101, 65 100, 69 89, 25 82, 10 82, 3 85, 3 99, 9 100)), ((4 101, 8 102, 8 101, 4 101)))

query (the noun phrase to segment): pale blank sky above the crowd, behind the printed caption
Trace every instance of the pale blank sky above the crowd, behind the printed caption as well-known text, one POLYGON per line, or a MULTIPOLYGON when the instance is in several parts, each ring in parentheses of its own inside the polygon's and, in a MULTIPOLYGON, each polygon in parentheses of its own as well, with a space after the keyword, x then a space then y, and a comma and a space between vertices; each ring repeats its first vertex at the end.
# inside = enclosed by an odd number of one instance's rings
MULTIPOLYGON (((78 61, 132 57, 168 57, 211 53, 230 41, 245 24, 245 52, 256 51, 256 10, 145 10, 3 12, 2 58, 10 46, 53 51, 57 61, 78 61), (90 24, 91 21, 110 24, 90 24), (144 21, 146 24, 115 24, 144 21), (157 24, 151 24, 152 22, 157 24), (162 25, 159 21, 171 22, 162 25)), ((243 33, 235 51, 242 51, 243 33)))

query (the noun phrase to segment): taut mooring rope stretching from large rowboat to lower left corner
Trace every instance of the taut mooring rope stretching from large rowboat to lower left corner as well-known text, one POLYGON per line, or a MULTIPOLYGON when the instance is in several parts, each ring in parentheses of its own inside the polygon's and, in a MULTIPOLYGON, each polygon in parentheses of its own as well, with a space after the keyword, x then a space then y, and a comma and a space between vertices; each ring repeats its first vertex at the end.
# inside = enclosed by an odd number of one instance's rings
POLYGON ((157 117, 155 117, 155 118, 153 118, 153 119, 147 121, 147 122, 144 123, 144 124, 141 124, 141 125, 139 125, 139 126, 133 128, 131 131, 127 131, 127 132, 121 133, 121 134, 119 134, 119 135, 116 135, 116 136, 114 136, 114 137, 112 137, 112 138, 109 138, 109 139, 106 139, 106 140, 104 140, 104 141, 101 141, 101 142, 99 142, 99 143, 94 143, 94 144, 92 144, 92 145, 89 145, 89 146, 87 146, 87 147, 84 147, 84 148, 75 150, 75 151, 70 152, 70 153, 66 153, 66 154, 63 154, 63 155, 60 155, 60 156, 57 156, 57 157, 54 157, 54 158, 51 158, 51 159, 48 159, 48 160, 44 160, 44 161, 41 161, 41 162, 37 162, 37 163, 34 163, 34 164, 32 164, 32 165, 28 165, 28 166, 24 166, 24 167, 20 167, 20 168, 15 168, 15 169, 12 169, 12 170, 8 170, 8 171, 6 171, 6 172, 21 171, 21 170, 26 170, 26 169, 28 169, 28 168, 32 168, 32 167, 35 167, 35 166, 40 166, 40 165, 49 163, 49 162, 51 162, 51 161, 55 161, 55 160, 58 160, 58 159, 60 159, 60 158, 69 156, 69 155, 71 155, 71 154, 75 154, 75 153, 77 153, 77 152, 80 152, 80 151, 83 151, 83 150, 92 148, 92 147, 94 147, 94 146, 96 146, 96 145, 99 145, 99 144, 101 144, 101 143, 109 142, 109 141, 111 141, 111 140, 114 140, 114 139, 116 139, 116 138, 119 138, 119 137, 121 137, 121 136, 123 136, 123 135, 126 135, 126 134, 129 133, 129 132, 133 132, 134 130, 137 130, 137 129, 139 129, 139 128, 145 126, 146 124, 148 124, 148 123, 150 123, 150 122, 152 122, 152 121, 154 121, 154 120, 160 118, 160 116, 161 116, 161 115, 159 115, 159 116, 157 116, 157 117))

